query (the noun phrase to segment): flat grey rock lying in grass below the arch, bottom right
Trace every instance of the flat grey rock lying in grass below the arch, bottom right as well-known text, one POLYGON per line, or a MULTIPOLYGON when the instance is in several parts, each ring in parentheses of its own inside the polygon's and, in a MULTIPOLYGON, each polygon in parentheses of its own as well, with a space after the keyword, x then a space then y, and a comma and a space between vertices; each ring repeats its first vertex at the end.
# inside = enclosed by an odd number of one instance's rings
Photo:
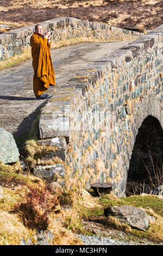
POLYGON ((149 216, 144 210, 130 205, 110 206, 104 209, 104 214, 105 217, 114 216, 120 222, 143 231, 148 229, 149 221, 155 221, 155 218, 149 216))

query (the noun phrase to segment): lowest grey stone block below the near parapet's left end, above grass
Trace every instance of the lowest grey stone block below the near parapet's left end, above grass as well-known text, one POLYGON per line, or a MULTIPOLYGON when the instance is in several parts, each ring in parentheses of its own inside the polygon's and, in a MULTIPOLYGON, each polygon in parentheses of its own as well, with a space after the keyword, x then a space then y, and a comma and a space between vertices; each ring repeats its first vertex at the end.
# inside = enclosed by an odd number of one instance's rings
POLYGON ((59 175, 62 178, 65 177, 65 167, 61 163, 54 164, 52 166, 35 166, 33 174, 39 178, 46 179, 47 181, 52 180, 55 175, 59 175))

